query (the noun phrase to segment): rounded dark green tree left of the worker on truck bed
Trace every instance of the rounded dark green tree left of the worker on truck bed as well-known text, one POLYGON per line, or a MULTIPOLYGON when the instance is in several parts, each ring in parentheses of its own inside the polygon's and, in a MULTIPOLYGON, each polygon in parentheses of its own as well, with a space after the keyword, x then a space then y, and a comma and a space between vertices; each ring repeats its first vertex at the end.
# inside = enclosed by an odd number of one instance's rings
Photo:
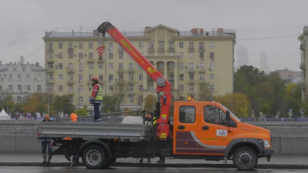
POLYGON ((53 107, 56 113, 59 111, 63 111, 67 114, 71 114, 75 110, 74 105, 71 103, 67 95, 56 95, 54 97, 53 107))

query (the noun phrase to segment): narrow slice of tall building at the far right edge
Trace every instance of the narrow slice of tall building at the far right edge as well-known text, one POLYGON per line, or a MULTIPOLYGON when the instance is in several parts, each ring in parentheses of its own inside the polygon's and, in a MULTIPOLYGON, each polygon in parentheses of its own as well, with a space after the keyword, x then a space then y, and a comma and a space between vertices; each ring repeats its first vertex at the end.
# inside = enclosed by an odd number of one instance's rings
POLYGON ((299 49, 301 50, 301 59, 299 68, 301 69, 301 82, 302 82, 302 101, 308 99, 308 78, 306 75, 308 66, 308 26, 304 26, 303 33, 297 38, 300 41, 299 49))

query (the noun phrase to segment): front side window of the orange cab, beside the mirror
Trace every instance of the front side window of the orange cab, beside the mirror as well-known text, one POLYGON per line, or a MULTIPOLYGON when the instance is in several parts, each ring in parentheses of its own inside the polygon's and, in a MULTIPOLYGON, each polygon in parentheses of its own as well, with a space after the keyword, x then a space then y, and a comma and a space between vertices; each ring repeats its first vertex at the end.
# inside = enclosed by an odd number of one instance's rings
POLYGON ((225 124, 226 113, 216 106, 204 106, 204 121, 211 124, 225 124))

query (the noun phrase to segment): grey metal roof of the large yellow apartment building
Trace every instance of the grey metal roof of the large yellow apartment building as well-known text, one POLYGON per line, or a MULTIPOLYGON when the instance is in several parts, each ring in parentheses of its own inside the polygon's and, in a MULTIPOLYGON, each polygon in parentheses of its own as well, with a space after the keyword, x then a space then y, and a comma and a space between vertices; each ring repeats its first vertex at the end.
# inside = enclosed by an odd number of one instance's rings
MULTIPOLYGON (((191 31, 178 31, 176 29, 167 27, 165 25, 157 25, 155 27, 146 27, 144 31, 121 31, 121 33, 126 37, 145 37, 145 33, 149 32, 153 29, 163 27, 168 30, 177 32, 179 37, 189 37, 189 36, 235 36, 236 30, 233 29, 223 29, 223 32, 217 31, 204 31, 202 33, 192 33, 191 31)), ((45 32, 45 37, 97 37, 98 35, 93 32, 45 32)), ((108 33, 106 33, 106 37, 110 37, 108 33)))

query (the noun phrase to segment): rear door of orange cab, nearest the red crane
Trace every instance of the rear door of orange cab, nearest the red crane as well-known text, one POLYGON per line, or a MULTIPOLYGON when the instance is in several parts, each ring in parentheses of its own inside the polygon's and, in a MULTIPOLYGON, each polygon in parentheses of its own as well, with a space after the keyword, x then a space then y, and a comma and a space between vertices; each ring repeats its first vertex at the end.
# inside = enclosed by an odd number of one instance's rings
MULTIPOLYGON (((198 136, 198 104, 191 102, 189 105, 177 104, 174 114, 174 153, 196 154, 197 142, 194 136, 198 136)), ((198 137, 197 137, 198 138, 198 137)))

